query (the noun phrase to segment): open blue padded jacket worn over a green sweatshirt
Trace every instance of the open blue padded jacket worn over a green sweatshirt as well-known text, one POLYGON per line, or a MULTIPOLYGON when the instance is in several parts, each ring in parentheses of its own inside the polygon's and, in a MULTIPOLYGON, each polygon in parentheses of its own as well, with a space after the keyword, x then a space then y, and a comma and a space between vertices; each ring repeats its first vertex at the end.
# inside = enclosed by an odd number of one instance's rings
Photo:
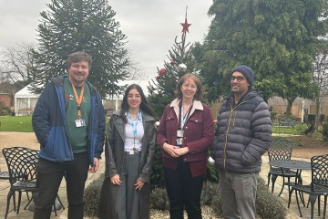
MULTIPOLYGON (((39 156, 53 162, 66 162, 74 159, 65 127, 64 79, 53 78, 46 85, 37 100, 32 116, 33 130, 41 144, 39 156)), ((105 112, 99 92, 87 82, 91 96, 90 119, 87 127, 87 152, 89 163, 94 157, 100 158, 104 146, 105 112)))

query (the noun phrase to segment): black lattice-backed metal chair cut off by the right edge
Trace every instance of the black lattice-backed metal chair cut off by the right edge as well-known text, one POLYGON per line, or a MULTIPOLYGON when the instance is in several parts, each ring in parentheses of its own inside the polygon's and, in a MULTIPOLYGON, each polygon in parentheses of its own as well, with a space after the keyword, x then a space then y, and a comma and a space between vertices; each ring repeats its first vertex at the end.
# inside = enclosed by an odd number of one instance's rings
POLYGON ((314 203, 318 199, 318 216, 320 216, 320 197, 324 196, 323 218, 325 218, 328 196, 328 154, 313 156, 311 158, 311 183, 303 185, 297 183, 292 185, 289 193, 288 207, 291 203, 292 192, 295 191, 297 206, 302 217, 300 203, 297 192, 308 193, 309 202, 311 203, 311 218, 313 218, 314 203))

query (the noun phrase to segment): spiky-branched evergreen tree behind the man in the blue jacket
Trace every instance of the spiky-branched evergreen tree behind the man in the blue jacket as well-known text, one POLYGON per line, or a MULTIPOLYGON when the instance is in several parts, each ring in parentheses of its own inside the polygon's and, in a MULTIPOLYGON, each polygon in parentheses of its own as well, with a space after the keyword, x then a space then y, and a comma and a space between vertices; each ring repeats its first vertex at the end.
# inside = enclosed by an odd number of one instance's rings
POLYGON ((68 54, 84 50, 93 57, 87 79, 103 96, 117 94, 118 80, 128 77, 129 60, 126 36, 108 1, 52 0, 47 6, 37 26, 39 47, 34 57, 41 67, 35 69, 36 86, 66 74, 68 54))

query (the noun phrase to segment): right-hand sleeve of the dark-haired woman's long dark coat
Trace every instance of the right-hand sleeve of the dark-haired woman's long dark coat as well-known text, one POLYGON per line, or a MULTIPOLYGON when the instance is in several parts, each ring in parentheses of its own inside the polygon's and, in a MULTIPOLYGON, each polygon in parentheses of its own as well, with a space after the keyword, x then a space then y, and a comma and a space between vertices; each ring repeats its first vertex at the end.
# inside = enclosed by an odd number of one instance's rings
POLYGON ((150 126, 150 133, 149 133, 149 142, 148 142, 148 151, 147 151, 147 157, 146 157, 146 162, 145 165, 143 166, 141 173, 139 175, 139 179, 146 182, 150 183, 150 175, 152 172, 152 162, 154 158, 154 153, 155 153, 155 141, 156 141, 156 130, 154 123, 151 121, 149 122, 150 126))

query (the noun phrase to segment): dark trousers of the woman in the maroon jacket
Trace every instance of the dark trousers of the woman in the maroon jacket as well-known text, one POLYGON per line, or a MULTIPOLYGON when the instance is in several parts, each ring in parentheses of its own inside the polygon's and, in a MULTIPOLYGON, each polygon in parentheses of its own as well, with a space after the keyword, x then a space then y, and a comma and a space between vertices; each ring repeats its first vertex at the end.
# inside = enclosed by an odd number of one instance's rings
POLYGON ((200 194, 204 175, 192 177, 190 162, 179 158, 177 170, 164 168, 165 185, 169 196, 169 217, 183 219, 184 208, 189 219, 201 219, 200 194))

